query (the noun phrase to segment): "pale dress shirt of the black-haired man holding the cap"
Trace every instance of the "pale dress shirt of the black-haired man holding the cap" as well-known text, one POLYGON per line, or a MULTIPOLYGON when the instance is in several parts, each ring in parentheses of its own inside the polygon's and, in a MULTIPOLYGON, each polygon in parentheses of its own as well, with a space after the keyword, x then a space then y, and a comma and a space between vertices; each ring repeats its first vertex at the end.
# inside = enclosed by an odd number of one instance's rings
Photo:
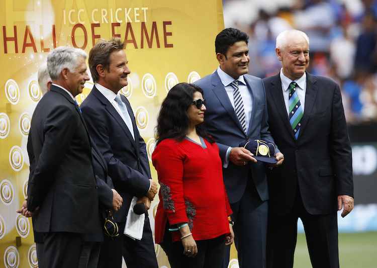
MULTIPOLYGON (((229 74, 227 74, 226 72, 224 72, 220 68, 220 66, 217 68, 217 73, 219 74, 220 80, 225 87, 225 90, 227 92, 229 101, 233 106, 233 109, 235 109, 234 108, 234 96, 233 96, 234 88, 231 85, 231 83, 235 79, 232 76, 230 76, 229 74)), ((236 80, 240 81, 240 83, 238 84, 238 91, 240 92, 242 102, 243 102, 243 109, 244 109, 244 112, 245 112, 245 125, 246 125, 246 132, 247 132, 247 130, 249 129, 249 125, 250 125, 250 116, 251 116, 251 110, 252 110, 253 102, 252 102, 252 99, 251 99, 250 92, 247 89, 247 85, 246 85, 245 78, 243 77, 243 75, 239 76, 236 80)))

